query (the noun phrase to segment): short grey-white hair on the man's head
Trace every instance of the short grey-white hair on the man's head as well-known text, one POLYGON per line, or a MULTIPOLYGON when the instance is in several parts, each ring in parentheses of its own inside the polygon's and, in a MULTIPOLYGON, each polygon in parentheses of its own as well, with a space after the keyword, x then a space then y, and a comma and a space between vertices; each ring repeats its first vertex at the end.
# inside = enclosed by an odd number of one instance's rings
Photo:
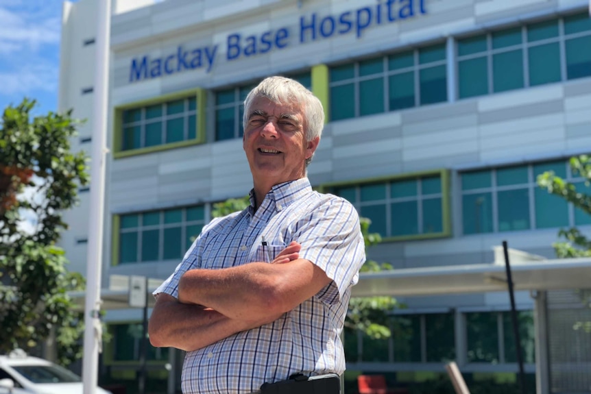
MULTIPOLYGON (((322 102, 306 89, 300 82, 286 77, 267 77, 258 86, 250 90, 244 100, 243 127, 246 129, 248 114, 252 101, 265 97, 276 104, 296 104, 302 108, 304 115, 304 133, 306 141, 322 136, 324 128, 324 108, 322 102)), ((306 160, 310 164, 312 158, 306 160)))

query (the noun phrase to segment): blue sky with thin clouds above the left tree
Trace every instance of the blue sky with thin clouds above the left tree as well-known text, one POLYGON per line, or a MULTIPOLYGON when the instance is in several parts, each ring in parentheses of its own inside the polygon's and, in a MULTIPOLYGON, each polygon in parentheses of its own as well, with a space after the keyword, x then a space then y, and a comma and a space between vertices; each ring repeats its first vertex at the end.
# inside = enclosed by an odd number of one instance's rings
POLYGON ((23 97, 58 106, 62 0, 0 0, 0 110, 23 97))

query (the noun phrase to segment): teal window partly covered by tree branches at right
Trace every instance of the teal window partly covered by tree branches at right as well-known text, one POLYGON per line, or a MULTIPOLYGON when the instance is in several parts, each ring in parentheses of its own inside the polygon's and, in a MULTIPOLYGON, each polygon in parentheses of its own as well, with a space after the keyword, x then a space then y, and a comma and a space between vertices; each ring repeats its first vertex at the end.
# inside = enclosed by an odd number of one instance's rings
POLYGON ((564 160, 462 173, 463 234, 590 224, 585 212, 538 186, 538 175, 546 171, 586 188, 564 160))

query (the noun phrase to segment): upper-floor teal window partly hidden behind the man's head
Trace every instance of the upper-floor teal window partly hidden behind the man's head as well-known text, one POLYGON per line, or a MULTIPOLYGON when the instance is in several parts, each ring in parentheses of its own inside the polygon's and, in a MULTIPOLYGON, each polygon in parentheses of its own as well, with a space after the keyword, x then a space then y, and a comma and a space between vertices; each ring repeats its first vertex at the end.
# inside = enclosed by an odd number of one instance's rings
MULTIPOLYGON (((287 75, 311 89, 311 73, 287 75)), ((243 116, 244 100, 256 84, 248 84, 237 88, 218 90, 215 92, 215 140, 241 138, 244 134, 243 116)))

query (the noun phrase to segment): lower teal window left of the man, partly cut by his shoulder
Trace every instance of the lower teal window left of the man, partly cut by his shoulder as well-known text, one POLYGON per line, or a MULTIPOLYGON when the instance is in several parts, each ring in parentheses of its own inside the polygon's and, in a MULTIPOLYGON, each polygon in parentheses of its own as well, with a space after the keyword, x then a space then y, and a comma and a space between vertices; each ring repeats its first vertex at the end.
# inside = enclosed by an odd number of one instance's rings
POLYGON ((119 218, 119 263, 180 260, 204 223, 204 206, 123 214, 119 218))

